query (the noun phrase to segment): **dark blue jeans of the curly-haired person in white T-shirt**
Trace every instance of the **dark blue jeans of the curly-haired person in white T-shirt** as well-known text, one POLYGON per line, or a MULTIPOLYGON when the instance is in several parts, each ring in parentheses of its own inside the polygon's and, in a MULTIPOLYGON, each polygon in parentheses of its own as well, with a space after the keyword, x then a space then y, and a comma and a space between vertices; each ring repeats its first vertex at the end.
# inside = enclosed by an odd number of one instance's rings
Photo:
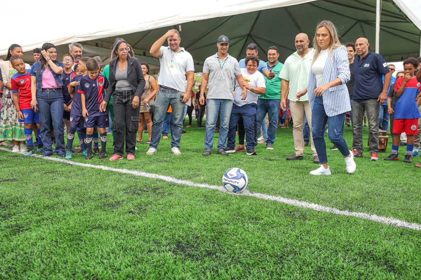
POLYGON ((233 104, 230 117, 230 129, 228 131, 227 147, 234 148, 236 145, 236 130, 240 119, 243 119, 244 130, 246 132, 247 151, 253 150, 256 145, 255 119, 257 114, 257 104, 251 103, 243 106, 233 104))

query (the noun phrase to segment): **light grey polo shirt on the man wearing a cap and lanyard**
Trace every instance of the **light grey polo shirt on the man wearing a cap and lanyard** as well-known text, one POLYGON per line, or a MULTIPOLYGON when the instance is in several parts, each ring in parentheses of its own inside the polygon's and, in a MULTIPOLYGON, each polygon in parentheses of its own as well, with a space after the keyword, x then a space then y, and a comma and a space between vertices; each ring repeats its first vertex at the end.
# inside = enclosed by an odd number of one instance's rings
POLYGON ((209 74, 207 99, 234 100, 236 76, 241 75, 240 65, 235 58, 228 55, 222 60, 216 53, 204 61, 203 73, 209 74))

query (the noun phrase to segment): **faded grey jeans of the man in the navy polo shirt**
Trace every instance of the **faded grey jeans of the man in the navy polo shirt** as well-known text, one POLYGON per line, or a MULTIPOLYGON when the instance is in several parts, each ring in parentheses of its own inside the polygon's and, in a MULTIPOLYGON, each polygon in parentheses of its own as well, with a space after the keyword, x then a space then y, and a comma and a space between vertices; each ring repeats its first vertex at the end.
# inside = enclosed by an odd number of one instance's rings
POLYGON ((378 154, 378 111, 377 99, 353 101, 352 111, 352 148, 362 153, 362 119, 364 110, 368 120, 368 139, 370 154, 378 154))

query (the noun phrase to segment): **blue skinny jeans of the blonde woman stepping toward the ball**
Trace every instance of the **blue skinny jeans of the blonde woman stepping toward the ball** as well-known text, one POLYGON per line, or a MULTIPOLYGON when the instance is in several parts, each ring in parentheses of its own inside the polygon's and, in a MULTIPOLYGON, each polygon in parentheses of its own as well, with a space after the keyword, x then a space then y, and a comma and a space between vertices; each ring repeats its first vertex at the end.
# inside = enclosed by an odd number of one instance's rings
POLYGON ((326 122, 329 120, 329 140, 343 156, 349 155, 349 149, 345 139, 342 137, 343 122, 345 113, 328 117, 324 110, 323 97, 317 96, 314 99, 311 124, 313 128, 313 143, 319 156, 320 163, 327 163, 326 143, 324 140, 326 122))

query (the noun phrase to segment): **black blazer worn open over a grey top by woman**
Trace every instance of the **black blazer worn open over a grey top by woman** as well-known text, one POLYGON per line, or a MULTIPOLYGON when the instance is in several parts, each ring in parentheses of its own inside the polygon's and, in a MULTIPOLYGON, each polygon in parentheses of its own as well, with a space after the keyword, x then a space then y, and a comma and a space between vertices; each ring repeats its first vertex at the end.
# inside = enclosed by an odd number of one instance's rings
MULTIPOLYGON (((104 99, 107 102, 110 101, 111 95, 113 95, 115 91, 115 72, 118 67, 117 62, 118 57, 110 61, 109 86, 104 99)), ((140 60, 137 58, 127 57, 127 80, 132 87, 134 95, 140 98, 145 91, 145 78, 143 78, 140 60)))

